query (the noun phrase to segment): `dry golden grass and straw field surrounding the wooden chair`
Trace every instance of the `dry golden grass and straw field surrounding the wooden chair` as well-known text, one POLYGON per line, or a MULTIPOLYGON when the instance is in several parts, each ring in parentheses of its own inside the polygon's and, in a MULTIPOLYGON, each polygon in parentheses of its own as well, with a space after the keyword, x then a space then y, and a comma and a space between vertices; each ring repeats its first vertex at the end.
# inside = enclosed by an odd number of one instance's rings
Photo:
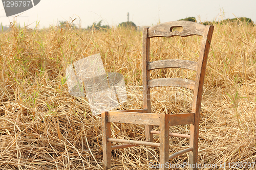
MULTIPOLYGON (((198 162, 217 164, 202 169, 256 169, 256 27, 246 23, 214 26, 198 162)), ((200 40, 155 38, 152 60, 196 61, 200 40)), ((10 32, 0 33, 0 169, 102 169, 101 118, 92 115, 86 98, 71 96, 65 83, 69 64, 97 53, 106 71, 124 77, 128 100, 117 109, 142 108, 141 32, 70 27, 31 30, 12 23, 10 32)), ((195 72, 160 69, 151 76, 193 79, 195 72)), ((190 90, 164 87, 151 93, 153 112, 175 114, 191 109, 190 90)), ((189 126, 170 131, 188 134, 189 126)), ((112 135, 123 139, 144 140, 143 132, 143 126, 112 125, 112 135)), ((188 139, 170 137, 170 153, 187 148, 187 144, 188 139)), ((113 151, 113 169, 151 169, 147 149, 113 151)), ((184 162, 187 154, 171 163, 184 162)))

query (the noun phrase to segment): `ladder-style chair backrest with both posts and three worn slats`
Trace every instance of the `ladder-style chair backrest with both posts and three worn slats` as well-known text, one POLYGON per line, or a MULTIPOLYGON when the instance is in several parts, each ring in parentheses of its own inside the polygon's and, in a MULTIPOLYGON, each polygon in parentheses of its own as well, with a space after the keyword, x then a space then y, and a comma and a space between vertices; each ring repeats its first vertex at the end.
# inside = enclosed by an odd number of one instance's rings
POLYGON ((143 109, 151 112, 150 88, 159 86, 177 86, 194 89, 192 112, 196 116, 200 113, 203 83, 209 47, 214 26, 204 26, 190 21, 173 21, 161 23, 151 28, 143 29, 143 109), (183 31, 174 31, 174 28, 182 27, 183 31), (150 62, 150 39, 154 37, 174 36, 203 36, 198 62, 188 60, 159 60, 150 62), (179 78, 161 78, 150 80, 150 70, 159 68, 185 68, 197 71, 196 80, 179 78))

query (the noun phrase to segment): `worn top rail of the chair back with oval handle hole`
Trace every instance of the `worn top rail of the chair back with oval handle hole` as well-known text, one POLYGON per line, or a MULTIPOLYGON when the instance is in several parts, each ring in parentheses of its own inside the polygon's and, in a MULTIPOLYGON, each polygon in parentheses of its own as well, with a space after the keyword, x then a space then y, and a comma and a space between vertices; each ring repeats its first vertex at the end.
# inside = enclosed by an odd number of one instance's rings
POLYGON ((205 31, 205 26, 190 21, 173 21, 173 22, 165 22, 160 23, 159 25, 153 26, 148 29, 147 37, 174 37, 174 36, 181 36, 187 37, 191 35, 200 35, 203 36, 205 31), (175 27, 183 27, 183 31, 173 31, 172 28, 175 27))

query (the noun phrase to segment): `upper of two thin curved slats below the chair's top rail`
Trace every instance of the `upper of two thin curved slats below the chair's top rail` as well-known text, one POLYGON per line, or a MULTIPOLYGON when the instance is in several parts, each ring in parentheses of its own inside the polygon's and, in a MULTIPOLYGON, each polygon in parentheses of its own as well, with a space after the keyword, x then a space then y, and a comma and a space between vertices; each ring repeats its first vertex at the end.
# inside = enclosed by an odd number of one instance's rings
POLYGON ((189 60, 159 60, 147 64, 147 69, 159 68, 185 68, 197 71, 197 62, 189 60))

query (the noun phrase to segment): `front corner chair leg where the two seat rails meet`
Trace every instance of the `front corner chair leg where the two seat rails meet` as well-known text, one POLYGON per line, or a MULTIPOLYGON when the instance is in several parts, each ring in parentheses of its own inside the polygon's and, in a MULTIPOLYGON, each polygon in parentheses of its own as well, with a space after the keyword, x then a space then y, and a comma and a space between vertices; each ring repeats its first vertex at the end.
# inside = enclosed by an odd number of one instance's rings
POLYGON ((169 162, 169 124, 167 115, 160 117, 160 170, 168 170, 169 162))

